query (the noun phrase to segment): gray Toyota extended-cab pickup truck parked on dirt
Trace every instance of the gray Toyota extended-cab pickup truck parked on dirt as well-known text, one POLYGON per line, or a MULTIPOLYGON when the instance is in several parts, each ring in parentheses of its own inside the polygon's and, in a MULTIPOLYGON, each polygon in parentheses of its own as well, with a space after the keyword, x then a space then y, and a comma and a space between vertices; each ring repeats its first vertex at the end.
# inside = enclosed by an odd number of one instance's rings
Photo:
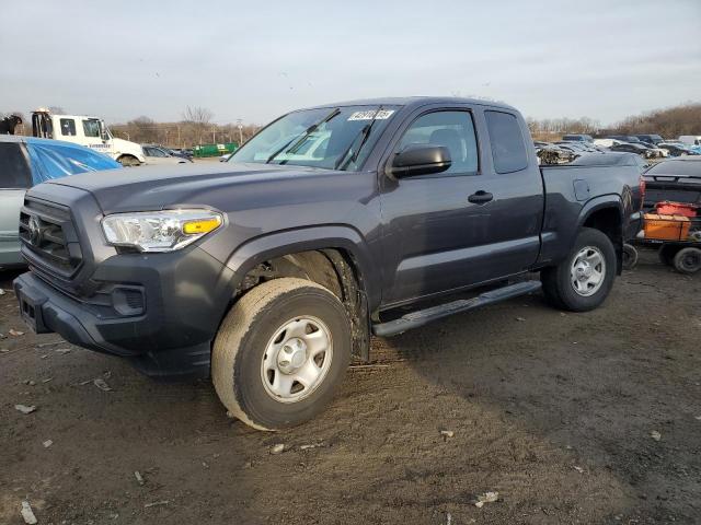
POLYGON ((283 429, 324 407, 370 335, 541 285, 559 308, 599 306, 641 202, 634 165, 539 167, 507 105, 330 104, 227 163, 32 188, 14 288, 37 332, 149 375, 210 374, 230 412, 283 429))

